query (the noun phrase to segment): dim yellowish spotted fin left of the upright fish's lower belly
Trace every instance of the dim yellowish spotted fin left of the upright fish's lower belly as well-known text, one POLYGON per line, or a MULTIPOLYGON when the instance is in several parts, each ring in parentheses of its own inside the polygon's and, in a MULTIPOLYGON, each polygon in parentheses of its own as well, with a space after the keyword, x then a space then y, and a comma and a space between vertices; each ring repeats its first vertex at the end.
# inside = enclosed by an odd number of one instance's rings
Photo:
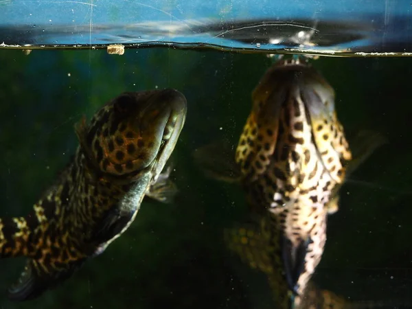
POLYGON ((272 248, 262 234, 258 222, 251 221, 225 229, 224 239, 227 247, 251 268, 259 269, 266 274, 274 271, 271 260, 272 248))

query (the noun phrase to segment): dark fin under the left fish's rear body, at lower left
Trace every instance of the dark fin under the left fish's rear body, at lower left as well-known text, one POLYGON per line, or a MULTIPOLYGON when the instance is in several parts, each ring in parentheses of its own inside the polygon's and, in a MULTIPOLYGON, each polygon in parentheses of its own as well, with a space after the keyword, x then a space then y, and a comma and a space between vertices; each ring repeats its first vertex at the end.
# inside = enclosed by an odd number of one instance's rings
POLYGON ((69 264, 45 264, 38 260, 27 260, 25 268, 15 284, 8 288, 8 298, 12 301, 35 299, 46 290, 56 288, 71 277, 82 266, 85 258, 69 264))

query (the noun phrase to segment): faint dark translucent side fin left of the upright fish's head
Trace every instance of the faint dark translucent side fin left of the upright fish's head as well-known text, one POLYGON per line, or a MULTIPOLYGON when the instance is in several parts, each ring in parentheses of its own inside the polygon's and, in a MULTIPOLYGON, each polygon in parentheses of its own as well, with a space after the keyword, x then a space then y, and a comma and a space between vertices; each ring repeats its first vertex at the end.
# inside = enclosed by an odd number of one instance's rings
POLYGON ((235 150, 225 141, 216 141, 197 148, 194 162, 211 179, 238 183, 242 177, 240 166, 235 161, 235 150))

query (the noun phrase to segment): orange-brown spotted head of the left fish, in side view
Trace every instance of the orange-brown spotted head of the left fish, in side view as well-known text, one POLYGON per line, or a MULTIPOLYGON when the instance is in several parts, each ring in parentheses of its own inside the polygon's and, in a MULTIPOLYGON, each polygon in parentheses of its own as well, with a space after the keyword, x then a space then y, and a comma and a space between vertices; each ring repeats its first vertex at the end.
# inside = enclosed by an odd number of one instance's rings
POLYGON ((78 129, 94 166, 112 176, 157 176, 168 161, 185 123, 187 102, 174 89, 125 92, 78 129))

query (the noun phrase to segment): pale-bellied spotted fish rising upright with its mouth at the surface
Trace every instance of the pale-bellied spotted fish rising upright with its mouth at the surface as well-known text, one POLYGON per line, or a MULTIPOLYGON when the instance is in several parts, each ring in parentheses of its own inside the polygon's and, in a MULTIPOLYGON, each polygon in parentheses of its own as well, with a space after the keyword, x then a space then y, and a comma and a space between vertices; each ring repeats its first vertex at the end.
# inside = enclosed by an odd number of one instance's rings
MULTIPOLYGON (((264 244, 271 244, 278 295, 303 293, 321 260, 327 216, 337 211, 336 193, 354 159, 334 98, 334 89, 308 62, 279 60, 253 90, 234 156, 223 141, 193 153, 206 176, 238 183, 245 192, 249 210, 258 215, 251 221, 259 218, 255 225, 267 238, 264 244)), ((386 142, 365 132, 358 164, 386 142)), ((279 308, 288 308, 290 297, 278 299, 279 308)))

